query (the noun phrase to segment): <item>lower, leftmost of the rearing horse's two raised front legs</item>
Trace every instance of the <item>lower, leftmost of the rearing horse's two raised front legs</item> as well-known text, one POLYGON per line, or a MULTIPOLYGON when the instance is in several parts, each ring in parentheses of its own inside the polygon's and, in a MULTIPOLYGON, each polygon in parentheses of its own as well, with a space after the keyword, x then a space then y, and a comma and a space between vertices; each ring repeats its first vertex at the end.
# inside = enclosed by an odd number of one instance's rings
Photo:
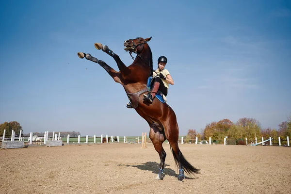
POLYGON ((107 65, 104 61, 98 60, 97 58, 93 57, 89 53, 84 53, 84 52, 78 52, 78 56, 83 59, 87 59, 89 61, 92 61, 94 63, 99 64, 101 67, 105 69, 105 71, 113 78, 115 82, 121 83, 120 81, 120 73, 115 71, 111 66, 107 65))

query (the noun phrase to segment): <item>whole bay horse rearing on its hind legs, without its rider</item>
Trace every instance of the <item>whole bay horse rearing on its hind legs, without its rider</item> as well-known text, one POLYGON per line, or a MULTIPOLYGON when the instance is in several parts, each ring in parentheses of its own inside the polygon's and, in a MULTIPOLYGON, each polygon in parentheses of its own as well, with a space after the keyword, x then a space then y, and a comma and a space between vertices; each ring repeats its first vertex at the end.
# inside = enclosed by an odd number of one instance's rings
MULTIPOLYGON (((136 54, 133 63, 126 66, 108 46, 103 46, 101 43, 95 43, 97 49, 102 49, 115 60, 119 71, 115 71, 112 67, 107 65, 90 54, 78 52, 78 56, 83 59, 95 62, 103 67, 106 72, 117 83, 120 83, 135 111, 142 116, 149 125, 149 138, 151 139, 155 150, 160 156, 160 168, 156 179, 163 179, 163 169, 165 164, 166 152, 162 147, 162 143, 168 140, 171 151, 174 156, 176 165, 179 167, 178 180, 185 178, 184 171, 188 174, 199 174, 199 170, 189 163, 183 156, 178 147, 179 128, 176 114, 173 109, 166 103, 160 102, 154 98, 152 103, 143 101, 142 94, 149 91, 146 87, 148 77, 153 73, 152 52, 147 42, 150 38, 135 38, 124 41, 125 50, 136 54)), ((133 58, 133 57, 132 57, 133 58)))

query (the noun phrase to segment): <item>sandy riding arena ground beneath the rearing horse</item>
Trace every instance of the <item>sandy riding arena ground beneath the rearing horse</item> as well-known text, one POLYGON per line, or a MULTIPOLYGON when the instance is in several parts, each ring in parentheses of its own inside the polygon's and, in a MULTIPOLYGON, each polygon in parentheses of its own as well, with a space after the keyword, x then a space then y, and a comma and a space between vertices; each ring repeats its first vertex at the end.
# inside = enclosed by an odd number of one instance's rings
POLYGON ((201 174, 178 181, 168 144, 163 180, 152 144, 0 150, 1 194, 290 194, 291 148, 179 145, 201 174))

